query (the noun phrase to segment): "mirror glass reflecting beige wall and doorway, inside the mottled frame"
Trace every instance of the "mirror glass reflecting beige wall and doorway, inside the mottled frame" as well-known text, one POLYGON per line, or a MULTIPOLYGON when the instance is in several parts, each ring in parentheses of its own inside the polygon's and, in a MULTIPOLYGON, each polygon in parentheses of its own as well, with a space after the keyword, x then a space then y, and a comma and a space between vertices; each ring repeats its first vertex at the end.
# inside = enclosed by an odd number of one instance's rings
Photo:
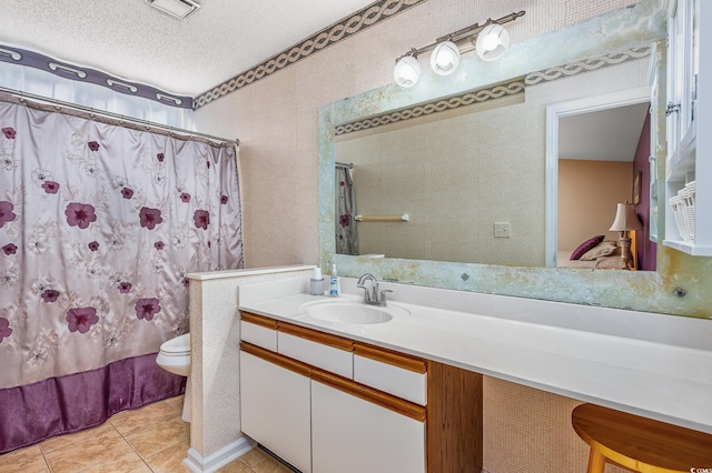
MULTIPOLYGON (((551 195, 546 194, 545 142, 551 130, 544 120, 546 108, 646 87, 647 67, 649 57, 643 57, 560 80, 527 84, 521 93, 337 137, 336 204, 342 205, 335 215, 337 252, 444 262, 547 265, 545 240, 551 230, 546 229, 545 215, 551 195), (344 211, 344 197, 339 194, 346 182, 339 174, 344 172, 343 164, 348 164, 353 179, 350 214, 344 211), (358 214, 383 219, 357 221, 358 214), (409 219, 397 219, 402 214, 408 214, 409 219), (346 250, 348 241, 357 244, 346 250)), ((632 202, 633 174, 642 168, 646 175, 639 181, 643 188, 639 193, 645 201, 640 202, 637 210, 646 225, 647 184, 641 182, 649 182, 649 122, 644 130, 649 107, 649 102, 637 104, 627 114, 621 111, 625 109, 619 110, 620 120, 631 123, 625 139, 596 135, 583 140, 582 135, 591 134, 591 123, 582 121, 583 115, 562 120, 558 131, 562 142, 574 143, 577 149, 564 149, 570 155, 562 155, 560 162, 558 202, 560 212, 564 213, 558 215, 556 265, 655 269, 655 243, 647 243, 646 231, 630 232, 632 258, 624 263, 617 246, 620 232, 609 230, 616 204, 632 202), (603 144, 610 148, 606 155, 600 152, 603 144), (585 153, 586 161, 571 153, 585 153), (570 171, 572 164, 593 167, 594 163, 601 168, 596 179, 590 174, 592 170, 570 171), (584 187, 577 181, 582 177, 587 179, 584 187), (570 194, 567 189, 577 193, 570 194), (572 213, 576 209, 581 219, 572 213), (615 246, 605 254, 607 260, 571 260, 581 243, 600 234, 604 238, 599 243, 615 246)), ((609 131, 616 130, 615 125, 611 127, 611 117, 602 117, 599 122, 609 124, 609 131)))

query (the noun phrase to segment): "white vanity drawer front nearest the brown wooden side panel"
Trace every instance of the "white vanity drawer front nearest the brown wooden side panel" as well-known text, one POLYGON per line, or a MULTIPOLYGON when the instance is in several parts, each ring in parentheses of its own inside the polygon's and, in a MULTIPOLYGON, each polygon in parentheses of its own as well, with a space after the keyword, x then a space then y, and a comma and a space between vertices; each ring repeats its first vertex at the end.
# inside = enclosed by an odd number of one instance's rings
POLYGON ((427 374, 354 355, 354 381, 419 405, 427 404, 427 374))

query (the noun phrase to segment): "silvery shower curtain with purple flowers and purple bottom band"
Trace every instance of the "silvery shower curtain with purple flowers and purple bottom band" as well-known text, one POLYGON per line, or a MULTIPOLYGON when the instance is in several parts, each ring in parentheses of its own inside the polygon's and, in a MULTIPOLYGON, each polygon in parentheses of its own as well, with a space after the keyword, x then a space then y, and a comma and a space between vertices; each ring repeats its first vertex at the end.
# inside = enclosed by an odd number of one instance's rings
POLYGON ((237 150, 0 97, 0 453, 180 394, 188 279, 243 266, 237 150))

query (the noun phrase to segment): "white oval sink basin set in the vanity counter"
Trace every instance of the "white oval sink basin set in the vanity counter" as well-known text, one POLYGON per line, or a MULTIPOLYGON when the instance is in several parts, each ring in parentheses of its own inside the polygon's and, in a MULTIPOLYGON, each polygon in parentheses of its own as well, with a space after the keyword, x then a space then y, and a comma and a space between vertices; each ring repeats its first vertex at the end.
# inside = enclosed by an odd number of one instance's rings
POLYGON ((409 312, 395 305, 367 305, 355 301, 318 301, 300 308, 300 312, 313 319, 334 323, 376 324, 393 320, 394 316, 408 315, 409 312))

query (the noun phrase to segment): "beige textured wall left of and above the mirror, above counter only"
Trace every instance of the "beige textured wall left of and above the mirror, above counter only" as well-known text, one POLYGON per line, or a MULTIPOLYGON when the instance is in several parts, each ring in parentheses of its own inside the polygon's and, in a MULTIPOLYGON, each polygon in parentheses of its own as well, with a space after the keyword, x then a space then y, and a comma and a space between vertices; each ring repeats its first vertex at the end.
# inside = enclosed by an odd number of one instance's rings
POLYGON ((428 0, 199 109, 199 130, 243 143, 246 265, 318 261, 319 107, 390 83, 395 58, 474 22, 526 9, 507 28, 516 42, 630 2, 524 3, 428 0))

